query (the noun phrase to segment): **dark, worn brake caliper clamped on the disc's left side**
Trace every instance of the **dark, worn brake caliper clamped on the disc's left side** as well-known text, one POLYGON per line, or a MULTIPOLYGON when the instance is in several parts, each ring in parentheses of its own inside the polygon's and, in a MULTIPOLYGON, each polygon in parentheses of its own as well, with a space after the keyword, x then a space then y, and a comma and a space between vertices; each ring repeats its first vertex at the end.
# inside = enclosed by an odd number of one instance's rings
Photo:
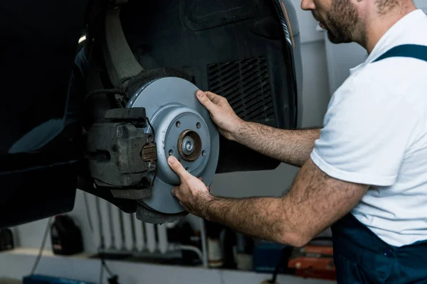
POLYGON ((156 169, 157 148, 143 107, 109 109, 106 121, 93 124, 88 132, 88 163, 99 187, 113 197, 141 200, 152 197, 152 176, 156 169))

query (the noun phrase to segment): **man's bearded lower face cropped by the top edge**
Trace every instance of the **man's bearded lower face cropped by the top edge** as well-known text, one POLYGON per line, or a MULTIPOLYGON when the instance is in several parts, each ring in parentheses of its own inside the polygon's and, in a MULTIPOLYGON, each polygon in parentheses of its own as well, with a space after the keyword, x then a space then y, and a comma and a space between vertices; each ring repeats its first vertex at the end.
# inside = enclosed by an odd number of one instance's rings
POLYGON ((312 11, 332 43, 351 43, 359 16, 352 0, 302 0, 301 8, 312 11))

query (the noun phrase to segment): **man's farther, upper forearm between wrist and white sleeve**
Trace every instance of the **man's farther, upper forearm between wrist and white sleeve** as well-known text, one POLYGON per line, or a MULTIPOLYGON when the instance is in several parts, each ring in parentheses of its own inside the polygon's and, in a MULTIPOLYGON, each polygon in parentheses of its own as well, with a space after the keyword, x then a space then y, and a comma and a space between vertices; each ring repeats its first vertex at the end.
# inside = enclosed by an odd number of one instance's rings
POLYGON ((245 122, 238 129, 235 140, 263 155, 301 167, 310 157, 319 136, 320 129, 275 129, 245 122))

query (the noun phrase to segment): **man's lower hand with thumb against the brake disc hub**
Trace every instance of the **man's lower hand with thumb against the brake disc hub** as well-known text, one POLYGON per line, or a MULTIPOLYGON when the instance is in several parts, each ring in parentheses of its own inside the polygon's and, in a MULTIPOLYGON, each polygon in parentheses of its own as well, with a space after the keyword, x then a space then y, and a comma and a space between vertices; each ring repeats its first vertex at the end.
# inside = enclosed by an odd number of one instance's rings
POLYGON ((172 189, 172 195, 178 198, 186 211, 205 217, 208 204, 214 199, 209 193, 209 187, 206 187, 201 179, 187 172, 173 155, 169 156, 167 163, 181 179, 181 185, 172 189))

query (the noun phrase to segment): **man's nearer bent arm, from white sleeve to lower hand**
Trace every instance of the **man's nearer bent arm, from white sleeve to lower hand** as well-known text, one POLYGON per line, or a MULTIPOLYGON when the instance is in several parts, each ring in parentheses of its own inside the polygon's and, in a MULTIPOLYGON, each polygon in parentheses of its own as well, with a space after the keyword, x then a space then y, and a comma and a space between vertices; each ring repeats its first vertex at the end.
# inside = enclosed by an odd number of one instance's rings
POLYGON ((168 162, 181 178, 172 194, 189 212, 243 234, 291 246, 307 244, 351 211, 368 188, 331 178, 309 159, 284 197, 214 197, 176 158, 169 157, 168 162))

